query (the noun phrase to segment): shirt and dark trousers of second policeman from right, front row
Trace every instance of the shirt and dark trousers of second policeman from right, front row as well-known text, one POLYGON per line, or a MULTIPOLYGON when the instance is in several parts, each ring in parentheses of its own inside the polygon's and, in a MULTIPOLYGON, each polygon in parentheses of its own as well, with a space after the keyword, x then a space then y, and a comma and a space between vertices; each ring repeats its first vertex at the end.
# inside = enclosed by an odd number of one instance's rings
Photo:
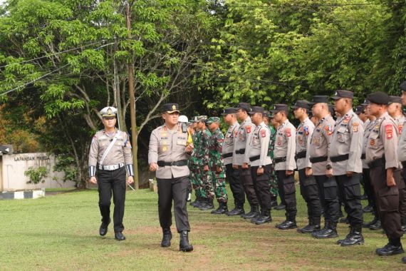
POLYGON ((329 157, 333 175, 342 195, 348 220, 355 230, 362 231, 363 209, 360 202, 360 178, 363 164, 360 159, 363 150, 364 128, 360 118, 350 109, 335 123, 329 157), (348 177, 347 172, 353 172, 348 177))

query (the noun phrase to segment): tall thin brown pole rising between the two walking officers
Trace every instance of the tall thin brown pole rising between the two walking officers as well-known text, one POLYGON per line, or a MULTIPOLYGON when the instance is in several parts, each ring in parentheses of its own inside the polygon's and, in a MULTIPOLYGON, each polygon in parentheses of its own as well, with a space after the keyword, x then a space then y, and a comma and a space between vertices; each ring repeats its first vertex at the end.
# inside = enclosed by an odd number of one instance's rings
MULTIPOLYGON (((126 1, 127 8, 127 32, 128 39, 132 39, 131 35, 131 9, 130 1, 126 1)), ((135 97, 134 97, 134 62, 132 61, 132 51, 130 51, 130 62, 127 66, 128 70, 128 92, 130 93, 130 121, 131 121, 131 145, 132 145, 132 161, 134 163, 134 187, 139 189, 138 181, 138 160, 137 160, 137 123, 135 121, 135 97)))

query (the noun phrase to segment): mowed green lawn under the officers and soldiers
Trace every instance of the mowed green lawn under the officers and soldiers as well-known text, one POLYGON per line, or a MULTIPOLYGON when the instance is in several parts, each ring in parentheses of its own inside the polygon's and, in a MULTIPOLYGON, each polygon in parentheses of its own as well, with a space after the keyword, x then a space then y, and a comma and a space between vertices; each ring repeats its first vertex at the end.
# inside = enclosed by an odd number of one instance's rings
MULTIPOLYGON (((162 248, 157 194, 138 190, 126 197, 123 242, 114 240, 112 225, 106 237, 98 235, 95 190, 0 200, 0 270, 406 270, 402 255, 375 255, 387 242, 382 231, 364 230, 365 245, 340 247, 338 238, 316 240, 296 230, 277 230, 284 211, 275 210, 274 221, 259 226, 188 206, 194 251, 179 252, 175 219, 172 247, 162 248)), ((303 226, 306 207, 299 191, 297 198, 298 225, 303 226)), ((229 205, 234 207, 232 199, 229 205)), ((345 237, 348 225, 340 224, 338 233, 345 237)))

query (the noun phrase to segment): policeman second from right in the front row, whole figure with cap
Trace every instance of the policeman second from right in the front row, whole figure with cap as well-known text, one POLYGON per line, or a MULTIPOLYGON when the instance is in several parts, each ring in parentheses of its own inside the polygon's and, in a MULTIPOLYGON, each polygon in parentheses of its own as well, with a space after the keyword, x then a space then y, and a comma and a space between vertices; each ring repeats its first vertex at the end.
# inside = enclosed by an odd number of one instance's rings
POLYGON ((338 90, 332 97, 335 111, 340 118, 335 123, 333 138, 328 156, 332 162, 332 172, 327 176, 335 176, 340 195, 348 213, 350 233, 343 240, 338 240, 342 246, 360 245, 364 243, 363 206, 361 205, 360 178, 363 163, 360 159, 363 151, 363 123, 353 111, 353 92, 338 90))

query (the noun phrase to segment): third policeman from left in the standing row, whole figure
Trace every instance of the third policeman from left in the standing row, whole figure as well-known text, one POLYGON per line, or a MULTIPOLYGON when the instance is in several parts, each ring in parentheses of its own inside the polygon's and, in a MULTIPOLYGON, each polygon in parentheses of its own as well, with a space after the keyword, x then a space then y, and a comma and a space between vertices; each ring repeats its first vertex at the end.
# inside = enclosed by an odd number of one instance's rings
POLYGON ((255 129, 249 143, 249 163, 251 166, 252 183, 254 183, 256 198, 261 205, 261 215, 251 219, 251 223, 261 225, 270 223, 271 193, 269 193, 269 175, 271 174, 271 158, 268 156, 271 131, 264 123, 264 108, 253 106, 251 120, 255 129))

